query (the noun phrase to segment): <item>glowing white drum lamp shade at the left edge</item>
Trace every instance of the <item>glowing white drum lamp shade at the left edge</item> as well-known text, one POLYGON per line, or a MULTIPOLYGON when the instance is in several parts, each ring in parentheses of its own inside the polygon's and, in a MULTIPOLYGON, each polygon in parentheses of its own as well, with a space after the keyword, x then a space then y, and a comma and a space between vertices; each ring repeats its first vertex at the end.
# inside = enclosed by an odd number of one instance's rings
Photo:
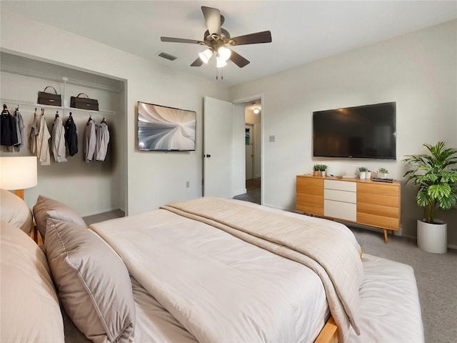
POLYGON ((0 188, 26 189, 38 184, 36 156, 0 157, 0 188))

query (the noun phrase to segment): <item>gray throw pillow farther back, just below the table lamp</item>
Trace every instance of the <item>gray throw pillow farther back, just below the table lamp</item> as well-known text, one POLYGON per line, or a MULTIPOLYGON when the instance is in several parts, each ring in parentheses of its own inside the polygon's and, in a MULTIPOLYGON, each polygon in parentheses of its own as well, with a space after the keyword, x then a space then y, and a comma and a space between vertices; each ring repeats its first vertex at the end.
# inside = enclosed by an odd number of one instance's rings
POLYGON ((34 206, 34 217, 36 227, 39 229, 41 237, 44 239, 46 234, 46 213, 52 211, 51 217, 79 224, 81 227, 86 227, 86 222, 81 218, 78 212, 66 204, 62 204, 57 200, 50 199, 40 195, 34 206))

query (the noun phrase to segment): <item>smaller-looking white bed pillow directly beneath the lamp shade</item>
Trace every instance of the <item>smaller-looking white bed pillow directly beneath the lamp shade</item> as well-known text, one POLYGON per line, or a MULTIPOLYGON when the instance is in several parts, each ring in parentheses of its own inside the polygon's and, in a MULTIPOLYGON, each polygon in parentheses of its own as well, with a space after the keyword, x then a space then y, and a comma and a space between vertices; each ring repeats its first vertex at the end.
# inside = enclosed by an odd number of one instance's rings
POLYGON ((33 217, 31 209, 16 194, 0 189, 0 220, 19 227, 26 234, 30 234, 33 217))

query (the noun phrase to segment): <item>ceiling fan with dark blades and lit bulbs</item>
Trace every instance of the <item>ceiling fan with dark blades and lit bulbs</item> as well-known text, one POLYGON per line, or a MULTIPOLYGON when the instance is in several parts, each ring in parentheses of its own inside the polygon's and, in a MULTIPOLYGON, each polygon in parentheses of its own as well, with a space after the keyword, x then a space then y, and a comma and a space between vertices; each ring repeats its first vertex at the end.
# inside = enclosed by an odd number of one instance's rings
POLYGON ((196 59, 191 66, 201 66, 204 63, 208 63, 209 59, 211 59, 213 55, 216 55, 216 66, 218 68, 226 66, 229 59, 240 68, 243 68, 243 66, 248 65, 250 61, 230 49, 231 46, 271 43, 270 31, 256 32, 255 34, 246 34, 244 36, 231 38, 229 31, 221 28, 221 25, 224 24, 224 16, 221 15, 219 9, 201 6, 201 11, 203 11, 206 26, 208 27, 208 30, 204 33, 203 41, 160 37, 161 41, 208 46, 208 49, 201 52, 199 58, 196 59))

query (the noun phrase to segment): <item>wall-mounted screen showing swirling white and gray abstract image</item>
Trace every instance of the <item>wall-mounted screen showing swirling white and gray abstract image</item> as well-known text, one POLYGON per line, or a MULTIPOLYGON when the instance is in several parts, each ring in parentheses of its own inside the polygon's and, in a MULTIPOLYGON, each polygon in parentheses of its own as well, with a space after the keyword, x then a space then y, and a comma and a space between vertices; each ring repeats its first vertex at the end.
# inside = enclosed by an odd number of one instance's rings
POLYGON ((138 149, 195 151, 196 112, 138 101, 138 149))

